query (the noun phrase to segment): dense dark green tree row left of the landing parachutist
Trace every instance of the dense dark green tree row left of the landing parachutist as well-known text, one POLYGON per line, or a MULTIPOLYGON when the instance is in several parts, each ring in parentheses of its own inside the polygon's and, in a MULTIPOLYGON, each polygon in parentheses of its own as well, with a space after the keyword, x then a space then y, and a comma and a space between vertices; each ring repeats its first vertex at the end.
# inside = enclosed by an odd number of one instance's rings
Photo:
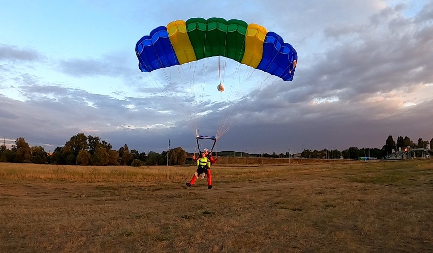
POLYGON ((113 150, 110 143, 98 136, 78 133, 72 136, 63 147, 57 147, 53 153, 47 153, 43 147, 30 147, 23 137, 15 140, 15 145, 7 149, 0 146, 0 162, 65 164, 65 165, 183 165, 187 152, 182 148, 163 151, 138 152, 129 150, 128 145, 113 150))

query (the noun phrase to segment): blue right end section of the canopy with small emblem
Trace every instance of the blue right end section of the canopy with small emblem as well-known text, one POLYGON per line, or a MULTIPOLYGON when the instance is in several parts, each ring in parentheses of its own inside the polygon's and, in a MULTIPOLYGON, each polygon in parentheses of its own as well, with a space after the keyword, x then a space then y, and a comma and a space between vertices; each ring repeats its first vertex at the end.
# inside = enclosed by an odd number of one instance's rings
POLYGON ((284 43, 283 38, 273 32, 268 32, 263 43, 263 57, 257 69, 288 81, 293 79, 293 65, 295 49, 284 43), (292 70, 292 71, 291 71, 292 70))

